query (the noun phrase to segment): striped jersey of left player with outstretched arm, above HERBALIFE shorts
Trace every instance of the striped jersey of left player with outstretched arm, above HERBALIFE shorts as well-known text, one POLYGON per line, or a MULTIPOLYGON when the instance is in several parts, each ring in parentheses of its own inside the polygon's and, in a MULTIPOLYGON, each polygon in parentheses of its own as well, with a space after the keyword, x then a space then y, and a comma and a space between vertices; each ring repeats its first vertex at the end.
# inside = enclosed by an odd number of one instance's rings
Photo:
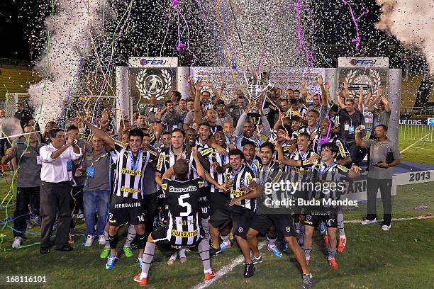
POLYGON ((157 158, 157 155, 142 149, 134 157, 128 146, 115 142, 113 161, 116 164, 116 176, 113 193, 118 197, 142 199, 142 177, 146 166, 157 158), (115 157, 116 156, 116 157, 115 157))

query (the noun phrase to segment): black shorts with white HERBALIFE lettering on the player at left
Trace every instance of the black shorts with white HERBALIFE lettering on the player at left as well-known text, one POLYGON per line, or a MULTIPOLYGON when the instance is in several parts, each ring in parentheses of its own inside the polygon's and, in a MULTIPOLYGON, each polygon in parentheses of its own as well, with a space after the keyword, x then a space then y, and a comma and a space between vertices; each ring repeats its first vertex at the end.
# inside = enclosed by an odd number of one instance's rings
POLYGON ((120 226, 125 222, 131 225, 145 223, 145 205, 143 200, 115 196, 111 199, 109 225, 120 226))

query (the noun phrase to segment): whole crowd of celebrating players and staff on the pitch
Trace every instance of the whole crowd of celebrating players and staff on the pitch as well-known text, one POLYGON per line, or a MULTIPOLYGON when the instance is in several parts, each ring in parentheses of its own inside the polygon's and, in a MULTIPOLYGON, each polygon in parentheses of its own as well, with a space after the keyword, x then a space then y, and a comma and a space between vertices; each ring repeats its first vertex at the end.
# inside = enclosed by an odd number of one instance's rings
MULTIPOLYGON (((67 244, 72 215, 84 213, 84 246, 99 238, 104 245, 101 258, 107 258, 106 269, 111 269, 118 259, 118 230, 127 225, 123 252, 131 257, 132 243, 138 248, 141 272, 134 280, 139 285, 148 284, 156 247, 169 258, 169 265, 178 254, 184 263, 186 251, 199 251, 204 280, 212 280, 216 273, 210 256, 233 246, 234 237, 245 259, 243 276, 250 278, 255 265, 262 263, 257 239, 261 235, 267 250, 278 258, 282 251, 293 252, 303 272, 302 287, 311 288, 308 263, 315 227, 324 236, 330 267, 338 269, 337 252, 343 252, 347 243, 340 206, 296 204, 340 200, 345 186, 325 190, 303 184, 351 182, 360 176, 366 148, 388 140, 390 106, 382 87, 366 95, 360 89, 352 98, 343 84, 335 104, 322 77, 314 84, 318 93, 308 93, 303 80, 299 90, 265 92, 262 103, 248 102, 241 90, 235 100, 223 101, 224 84, 220 86, 217 90, 209 82, 189 79, 189 96, 172 91, 165 103, 152 96, 133 114, 133 121, 124 117, 117 127, 107 110, 97 122, 77 114, 69 119, 67 139, 53 122, 43 135, 35 132, 34 125, 24 124, 29 134, 14 142, 2 158, 3 163, 15 158, 21 164, 16 169, 13 247, 23 242, 22 216, 32 196, 33 203, 40 198, 41 254, 49 252, 54 227, 56 249, 72 250, 67 244), (364 106, 374 115, 371 140, 365 140, 364 106), (260 116, 252 116, 252 108, 260 116), (31 177, 21 174, 28 169, 31 177), (265 189, 284 181, 293 188, 265 189), (286 205, 279 205, 284 200, 286 205), (288 200, 295 205, 288 205, 288 200)), ((386 149, 393 154, 391 162, 374 150, 368 162, 390 171, 399 163, 395 148, 386 149)), ((374 174, 370 169, 368 178, 375 179, 374 174)), ((390 190, 389 183, 384 186, 382 194, 390 190)), ((362 224, 375 222, 375 217, 368 212, 362 224)), ((390 220, 385 208, 384 231, 390 229, 390 220)))

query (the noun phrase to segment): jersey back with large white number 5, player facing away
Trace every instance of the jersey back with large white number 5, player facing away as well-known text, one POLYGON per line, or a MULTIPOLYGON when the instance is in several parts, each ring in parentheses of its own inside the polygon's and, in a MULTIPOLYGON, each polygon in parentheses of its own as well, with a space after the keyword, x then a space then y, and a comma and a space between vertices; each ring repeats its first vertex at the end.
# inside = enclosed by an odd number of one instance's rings
POLYGON ((197 213, 200 188, 203 187, 201 177, 187 181, 162 180, 162 190, 169 206, 166 239, 172 244, 191 245, 199 241, 201 231, 197 213))

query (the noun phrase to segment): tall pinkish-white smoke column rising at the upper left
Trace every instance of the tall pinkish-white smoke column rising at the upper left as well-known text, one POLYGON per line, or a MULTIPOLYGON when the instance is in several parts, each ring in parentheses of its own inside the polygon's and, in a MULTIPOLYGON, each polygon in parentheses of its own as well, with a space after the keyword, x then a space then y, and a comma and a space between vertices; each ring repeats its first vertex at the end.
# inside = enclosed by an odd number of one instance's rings
POLYGON ((62 116, 71 84, 74 86, 70 97, 74 96, 73 92, 79 86, 76 74, 85 45, 87 53, 93 53, 89 35, 103 30, 103 1, 57 0, 56 3, 55 15, 45 20, 50 32, 50 47, 47 47, 47 40, 36 66, 41 76, 48 80, 43 79, 28 89, 30 103, 35 108, 41 128, 50 120, 57 121, 62 116))

